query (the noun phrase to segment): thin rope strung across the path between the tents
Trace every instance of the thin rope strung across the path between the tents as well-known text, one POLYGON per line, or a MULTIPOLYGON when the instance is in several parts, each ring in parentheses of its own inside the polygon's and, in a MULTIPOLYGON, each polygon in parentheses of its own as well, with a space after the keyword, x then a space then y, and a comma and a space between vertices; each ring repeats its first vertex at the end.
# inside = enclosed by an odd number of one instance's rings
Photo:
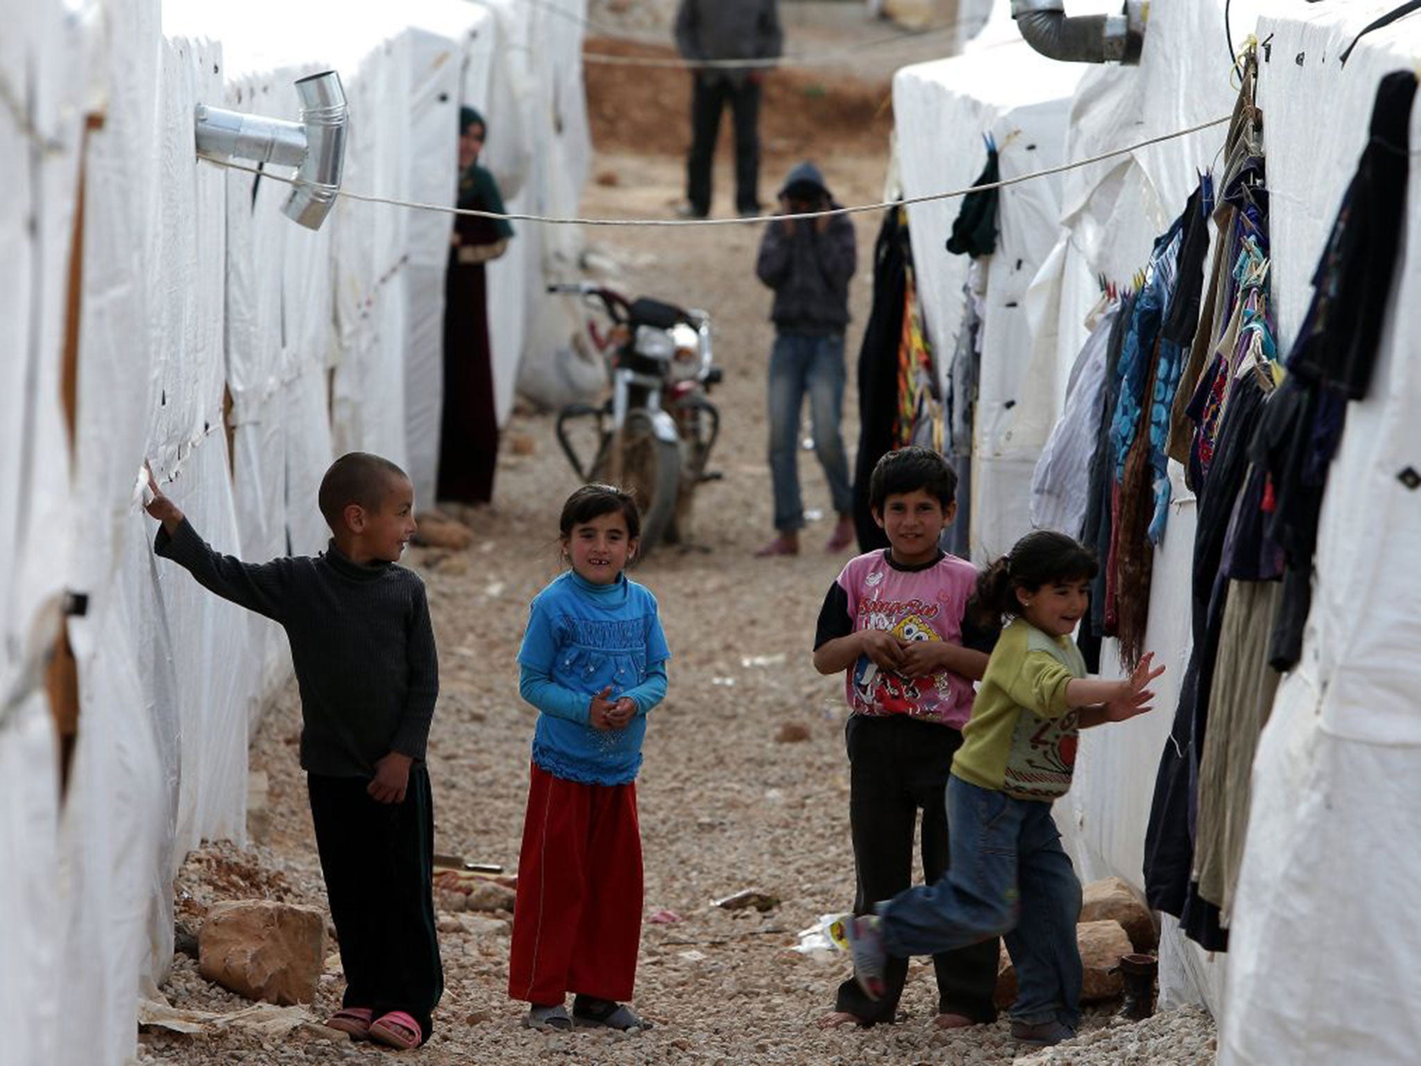
MULTIPOLYGON (((1209 129, 1211 126, 1219 126, 1229 122, 1232 115, 1225 115, 1223 118, 1211 118, 1206 122, 1199 122, 1198 125, 1188 126, 1187 129, 1177 129, 1169 134, 1161 134, 1160 136, 1151 136, 1144 141, 1137 141, 1133 145, 1124 148, 1114 148, 1108 152, 1101 152, 1100 155, 1093 155, 1088 159, 1074 159, 1069 163, 1061 163, 1059 166, 1047 166, 1042 171, 1032 171, 1030 173, 1017 175, 1016 178, 1003 178, 999 182, 986 182, 983 185, 971 185, 965 189, 951 189, 948 192, 932 192, 922 196, 908 196, 901 200, 885 200, 882 203, 863 203, 854 208, 831 208, 828 210, 809 210, 799 212, 793 215, 764 215, 749 219, 584 219, 584 217, 549 217, 546 215, 523 215, 516 212, 497 213, 492 210, 476 210, 473 208, 449 208, 442 203, 418 203, 414 200, 398 200, 389 196, 371 196, 360 192, 350 192, 347 189, 340 189, 338 196, 344 196, 350 200, 361 200, 362 203, 385 203, 392 208, 408 208, 411 210, 431 210, 439 212, 442 215, 463 215, 475 219, 493 219, 504 222, 533 222, 544 226, 674 226, 674 227, 705 227, 705 226, 763 226, 776 219, 818 219, 830 217, 833 215, 863 215, 867 212, 887 210, 888 208, 897 208, 904 205, 915 203, 931 203, 934 200, 948 200, 956 196, 966 196, 972 192, 988 192, 990 189, 1005 189, 1012 185, 1022 185, 1023 182, 1036 181, 1037 178, 1047 178, 1054 173, 1066 173, 1067 171, 1077 171, 1083 166, 1091 166, 1107 159, 1114 159, 1115 156, 1130 155, 1131 152, 1138 152, 1141 148, 1148 148, 1150 145, 1162 144, 1164 141, 1174 141, 1181 136, 1189 136, 1191 134, 1198 134, 1199 131, 1209 129)), ((256 166, 249 166, 246 163, 233 162, 230 159, 212 159, 209 156, 199 156, 213 166, 222 166, 232 171, 246 171, 247 173, 254 173, 264 178, 271 178, 287 185, 310 185, 304 179, 287 178, 283 175, 271 173, 270 171, 259 169, 256 166)))

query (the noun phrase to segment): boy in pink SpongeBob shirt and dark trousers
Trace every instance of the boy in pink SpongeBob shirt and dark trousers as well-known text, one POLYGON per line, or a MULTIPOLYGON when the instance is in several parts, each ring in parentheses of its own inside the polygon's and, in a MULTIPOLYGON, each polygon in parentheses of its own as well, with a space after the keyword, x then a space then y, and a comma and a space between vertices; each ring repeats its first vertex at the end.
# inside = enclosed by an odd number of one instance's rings
MULTIPOLYGON (((938 547, 956 515, 956 483, 948 462, 926 448, 880 459, 868 496, 890 547, 851 560, 818 615, 814 667, 844 671, 851 711, 844 736, 855 914, 912 884, 919 809, 924 878, 932 884, 948 868, 948 772, 972 714, 972 682, 996 635, 969 621, 976 569, 938 547)), ((996 1019, 998 951, 990 940, 934 957, 939 1026, 996 1019)), ((853 978, 840 985, 823 1025, 892 1022, 908 967, 894 959, 890 968, 877 1002, 853 978)))

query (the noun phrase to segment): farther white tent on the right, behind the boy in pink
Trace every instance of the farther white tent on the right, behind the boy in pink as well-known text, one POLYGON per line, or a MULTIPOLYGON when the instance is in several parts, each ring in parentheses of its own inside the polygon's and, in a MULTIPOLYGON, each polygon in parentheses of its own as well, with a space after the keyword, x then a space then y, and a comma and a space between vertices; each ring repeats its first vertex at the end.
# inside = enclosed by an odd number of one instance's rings
MULTIPOLYGON (((986 158, 986 134, 998 144, 1003 179, 1059 165, 1079 78, 1077 68, 1052 63, 1022 41, 899 70, 894 115, 904 196, 969 186, 986 158)), ((959 199, 908 208, 928 337, 942 361, 952 351, 963 306, 968 260, 944 249, 959 208, 959 199)), ((1050 179, 1002 190, 998 249, 986 264, 969 509, 972 554, 979 559, 1006 551, 1016 533, 1029 529, 1032 468, 1050 425, 1027 431, 1016 419, 1030 389, 1027 364, 1017 358, 1030 337, 1022 298, 1056 240, 1057 215, 1050 179)), ((946 371, 939 362, 939 374, 946 371)))

